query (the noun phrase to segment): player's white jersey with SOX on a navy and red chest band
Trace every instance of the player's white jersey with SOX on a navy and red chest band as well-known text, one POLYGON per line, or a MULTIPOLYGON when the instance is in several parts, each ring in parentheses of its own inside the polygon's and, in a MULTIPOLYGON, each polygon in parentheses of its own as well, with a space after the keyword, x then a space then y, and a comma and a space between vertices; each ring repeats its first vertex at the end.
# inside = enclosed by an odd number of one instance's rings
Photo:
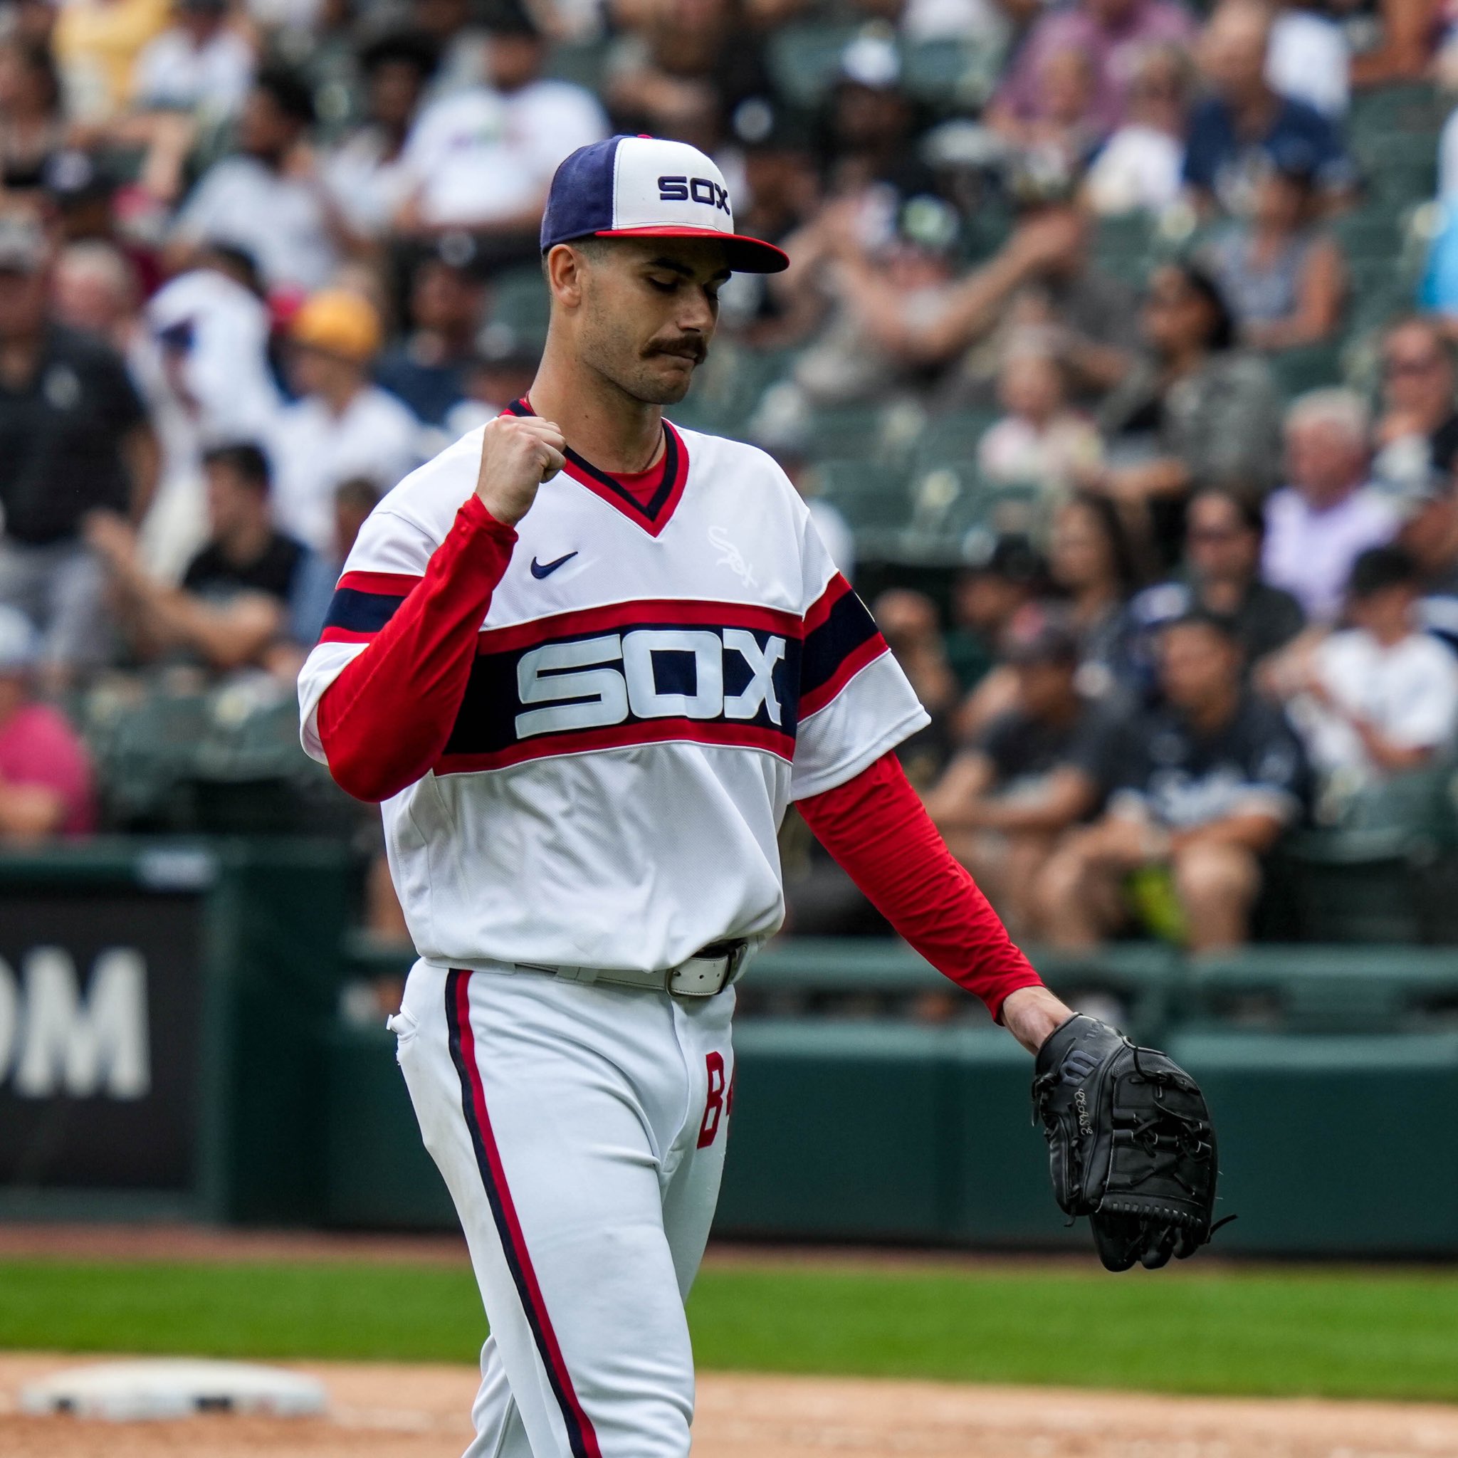
MULTIPOLYGON (((572 452, 542 486, 445 752, 383 805, 430 964, 650 970, 763 939, 783 920, 787 803, 927 723, 780 468, 665 437, 646 507, 572 452)), ((480 455, 474 430, 364 523, 299 678, 316 760, 319 697, 424 573, 480 455)))

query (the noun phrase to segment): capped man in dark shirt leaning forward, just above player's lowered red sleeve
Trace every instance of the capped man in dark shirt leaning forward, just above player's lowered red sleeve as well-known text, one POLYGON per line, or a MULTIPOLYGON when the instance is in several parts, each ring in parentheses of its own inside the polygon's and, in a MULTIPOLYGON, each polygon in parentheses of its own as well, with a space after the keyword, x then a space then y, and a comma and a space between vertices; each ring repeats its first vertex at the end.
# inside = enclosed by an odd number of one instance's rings
POLYGON ((1104 800, 1118 725, 1079 693, 1079 639, 1057 611, 1024 614, 1003 653, 1015 706, 952 760, 924 799, 1018 936, 1032 924, 1032 888, 1059 837, 1104 800))

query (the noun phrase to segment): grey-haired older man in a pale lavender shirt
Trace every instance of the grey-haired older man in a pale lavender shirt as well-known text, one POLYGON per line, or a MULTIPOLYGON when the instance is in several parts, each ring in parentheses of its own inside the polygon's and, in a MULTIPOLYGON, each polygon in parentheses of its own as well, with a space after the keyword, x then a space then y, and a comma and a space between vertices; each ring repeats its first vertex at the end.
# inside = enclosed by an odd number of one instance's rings
POLYGON ((1397 532, 1395 507, 1369 483, 1371 417, 1360 395, 1317 389, 1286 416, 1289 484, 1266 504, 1263 576, 1314 623, 1341 609, 1352 563, 1397 532))

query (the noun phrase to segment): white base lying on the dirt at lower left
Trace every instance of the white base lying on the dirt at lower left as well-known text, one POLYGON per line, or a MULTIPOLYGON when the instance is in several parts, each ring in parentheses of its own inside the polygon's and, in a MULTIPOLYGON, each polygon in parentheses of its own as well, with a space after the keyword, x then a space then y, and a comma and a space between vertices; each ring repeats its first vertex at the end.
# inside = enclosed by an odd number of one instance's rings
POLYGON ((316 1417, 324 1384, 297 1372, 243 1362, 155 1359, 71 1368, 20 1392, 20 1411, 67 1413, 112 1422, 192 1417, 197 1413, 264 1413, 316 1417))

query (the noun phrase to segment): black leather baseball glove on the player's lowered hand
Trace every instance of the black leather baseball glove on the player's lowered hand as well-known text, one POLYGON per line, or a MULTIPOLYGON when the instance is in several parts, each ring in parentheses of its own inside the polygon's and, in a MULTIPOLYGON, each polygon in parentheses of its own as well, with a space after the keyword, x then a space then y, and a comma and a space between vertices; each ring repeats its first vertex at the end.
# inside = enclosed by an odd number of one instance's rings
POLYGON ((1210 1110, 1166 1054, 1075 1013, 1038 1050, 1032 1108, 1053 1193, 1067 1215, 1089 1217, 1111 1271, 1194 1255, 1219 1228, 1210 1110))

